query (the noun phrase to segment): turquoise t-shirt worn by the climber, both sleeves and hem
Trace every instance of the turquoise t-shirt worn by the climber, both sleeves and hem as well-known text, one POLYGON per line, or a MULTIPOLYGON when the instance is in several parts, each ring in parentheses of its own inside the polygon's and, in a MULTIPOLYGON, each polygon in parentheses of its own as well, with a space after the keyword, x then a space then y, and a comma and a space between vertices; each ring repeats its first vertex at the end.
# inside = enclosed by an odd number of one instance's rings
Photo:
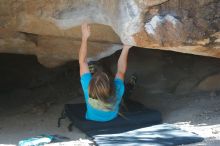
POLYGON ((111 111, 104 111, 100 109, 96 109, 92 107, 88 100, 89 100, 89 83, 90 80, 92 79, 91 73, 85 73, 81 76, 81 84, 82 84, 82 89, 84 92, 84 97, 86 101, 86 119, 87 120, 93 120, 93 121, 99 121, 99 122, 105 122, 105 121, 110 121, 117 117, 118 111, 119 111, 119 105, 122 99, 122 96, 124 94, 124 82, 119 79, 115 78, 114 79, 114 84, 115 84, 115 95, 116 95, 116 104, 111 111))

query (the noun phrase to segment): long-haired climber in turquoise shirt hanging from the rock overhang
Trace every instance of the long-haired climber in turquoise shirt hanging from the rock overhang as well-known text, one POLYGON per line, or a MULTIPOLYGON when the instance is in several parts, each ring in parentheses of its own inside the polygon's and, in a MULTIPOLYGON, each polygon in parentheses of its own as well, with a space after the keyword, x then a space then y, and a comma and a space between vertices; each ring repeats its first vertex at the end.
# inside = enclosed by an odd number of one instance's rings
POLYGON ((87 62, 87 40, 90 36, 90 27, 84 23, 81 29, 82 44, 79 50, 79 66, 87 107, 86 119, 99 122, 110 121, 117 117, 119 112, 120 102, 125 90, 124 76, 131 46, 123 46, 114 79, 102 71, 95 72, 92 75, 87 62))

